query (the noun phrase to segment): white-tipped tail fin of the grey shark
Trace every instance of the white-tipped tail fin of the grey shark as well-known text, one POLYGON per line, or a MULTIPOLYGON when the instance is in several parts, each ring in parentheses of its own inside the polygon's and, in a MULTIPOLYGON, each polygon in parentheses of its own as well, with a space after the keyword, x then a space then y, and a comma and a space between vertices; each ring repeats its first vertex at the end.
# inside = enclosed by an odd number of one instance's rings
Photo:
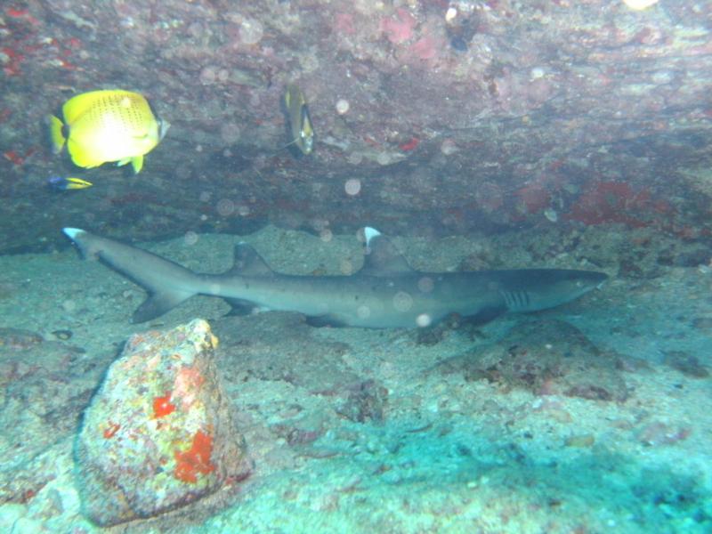
POLYGON ((155 319, 200 292, 198 275, 177 263, 78 228, 63 231, 85 257, 106 263, 150 293, 134 312, 134 323, 155 319))

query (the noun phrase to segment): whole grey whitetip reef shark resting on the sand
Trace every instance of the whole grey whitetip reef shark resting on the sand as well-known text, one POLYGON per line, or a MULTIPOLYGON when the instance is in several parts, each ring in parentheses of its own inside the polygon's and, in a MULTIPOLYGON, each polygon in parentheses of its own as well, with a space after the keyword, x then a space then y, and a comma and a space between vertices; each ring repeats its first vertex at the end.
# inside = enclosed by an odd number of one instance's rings
POLYGON ((223 297, 233 306, 303 313, 317 326, 415 328, 450 314, 477 322, 505 312, 537 312, 568 303, 608 278, 565 269, 421 272, 380 232, 364 229, 363 268, 350 276, 295 276, 272 271, 253 247, 235 248, 235 265, 203 274, 114 239, 65 228, 85 257, 134 280, 150 296, 134 323, 155 319, 193 295, 223 297))

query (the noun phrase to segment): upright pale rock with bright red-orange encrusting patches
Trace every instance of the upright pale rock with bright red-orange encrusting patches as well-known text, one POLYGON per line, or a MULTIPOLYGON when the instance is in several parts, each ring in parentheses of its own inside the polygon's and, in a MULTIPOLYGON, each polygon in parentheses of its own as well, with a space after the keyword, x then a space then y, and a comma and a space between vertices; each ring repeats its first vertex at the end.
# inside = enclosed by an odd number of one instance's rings
POLYGON ((86 409, 82 501, 105 526, 162 514, 247 476, 204 320, 132 336, 86 409))

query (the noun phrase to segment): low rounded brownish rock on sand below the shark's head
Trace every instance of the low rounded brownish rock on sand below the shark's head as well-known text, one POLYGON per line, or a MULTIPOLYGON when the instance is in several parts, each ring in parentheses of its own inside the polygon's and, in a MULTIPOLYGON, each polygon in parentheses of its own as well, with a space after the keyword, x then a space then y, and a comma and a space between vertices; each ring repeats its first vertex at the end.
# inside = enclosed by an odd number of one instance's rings
POLYGON ((539 395, 625 401, 620 366, 618 354, 599 350, 569 323, 532 320, 512 328, 498 343, 445 360, 437 369, 539 395))

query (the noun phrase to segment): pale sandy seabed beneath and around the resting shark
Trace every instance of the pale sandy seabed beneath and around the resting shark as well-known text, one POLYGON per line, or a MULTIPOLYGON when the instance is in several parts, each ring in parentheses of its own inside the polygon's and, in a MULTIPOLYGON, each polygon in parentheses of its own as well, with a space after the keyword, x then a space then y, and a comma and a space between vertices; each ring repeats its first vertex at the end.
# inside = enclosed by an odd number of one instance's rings
MULTIPOLYGON (((215 272, 241 239, 146 247, 215 272)), ((278 271, 339 273, 361 261, 349 236, 267 228, 245 240, 278 271)), ((468 252, 463 240, 398 243, 422 270, 453 268, 468 252)), ((201 317, 221 340, 255 472, 209 506, 110 531, 712 531, 710 289, 708 269, 670 267, 655 279, 613 278, 553 311, 436 336, 312 328, 283 312, 228 317, 208 297, 132 325, 142 290, 76 251, 0 257, 0 530, 102 530, 76 487, 82 410, 127 336, 201 317), (617 354, 626 399, 443 370, 530 320, 565 321, 617 354)))

